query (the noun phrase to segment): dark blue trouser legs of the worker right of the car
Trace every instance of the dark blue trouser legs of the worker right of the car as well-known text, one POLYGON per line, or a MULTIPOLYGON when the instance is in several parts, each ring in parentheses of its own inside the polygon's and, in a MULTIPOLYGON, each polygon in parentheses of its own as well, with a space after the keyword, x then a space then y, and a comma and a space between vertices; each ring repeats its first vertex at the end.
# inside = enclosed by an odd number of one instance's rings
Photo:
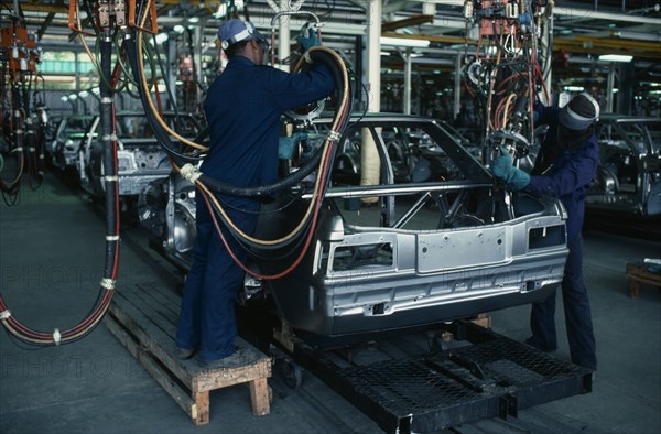
MULTIPOLYGON (((597 369, 589 299, 583 283, 583 240, 581 236, 570 239, 567 247, 570 256, 561 286, 570 354, 572 362, 585 368, 597 369)), ((532 304, 530 328, 532 346, 545 351, 553 351, 557 348, 555 293, 540 303, 532 304)))

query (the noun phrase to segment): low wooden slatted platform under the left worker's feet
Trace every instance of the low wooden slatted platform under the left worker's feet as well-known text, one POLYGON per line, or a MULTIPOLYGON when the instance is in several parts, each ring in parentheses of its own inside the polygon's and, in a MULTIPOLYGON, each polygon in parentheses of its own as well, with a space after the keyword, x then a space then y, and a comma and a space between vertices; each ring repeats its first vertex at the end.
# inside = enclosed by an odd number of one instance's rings
POLYGON ((138 284, 118 290, 105 318, 106 327, 142 364, 196 425, 209 422, 209 391, 248 383, 252 413, 270 412, 271 359, 238 338, 236 345, 254 361, 239 368, 204 369, 197 360, 175 356, 174 337, 181 299, 167 289, 138 284))

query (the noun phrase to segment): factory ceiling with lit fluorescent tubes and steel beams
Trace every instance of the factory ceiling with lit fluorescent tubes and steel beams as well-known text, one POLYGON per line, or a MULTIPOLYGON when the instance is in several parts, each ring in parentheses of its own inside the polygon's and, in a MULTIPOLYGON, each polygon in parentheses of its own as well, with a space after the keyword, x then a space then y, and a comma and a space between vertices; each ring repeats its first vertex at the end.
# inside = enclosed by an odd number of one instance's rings
MULTIPOLYGON (((72 0, 73 1, 73 0, 72 0)), ((112 0, 109 0, 110 2, 112 0)), ((659 0, 543 0, 553 11, 554 56, 565 65, 592 63, 602 54, 628 54, 646 67, 655 68, 661 61, 661 10, 659 0)), ((82 4, 83 1, 78 0, 82 4)), ((140 3, 140 0, 137 0, 140 3)), ((228 6, 239 9, 258 28, 269 31, 277 4, 300 7, 317 14, 325 23, 324 42, 338 50, 351 50, 353 35, 365 35, 366 23, 375 0, 158 0, 159 30, 173 32, 175 26, 199 26, 201 43, 214 46, 218 25, 225 20, 219 11, 228 6), (243 4, 245 3, 245 4, 243 4)), ((13 3, 17 3, 14 0, 13 3)), ((44 50, 76 51, 79 44, 69 29, 67 0, 21 0, 21 13, 29 30, 36 32, 44 50)), ((76 3, 74 3, 76 4, 76 3)), ((381 2, 383 36, 418 37, 431 41, 423 50, 424 68, 452 68, 452 53, 469 52, 475 42, 464 19, 463 0, 386 0, 381 2), (434 65, 434 59, 436 64, 434 65), (445 65, 445 66, 444 66, 445 65)), ((12 2, 2 3, 3 21, 13 13, 12 2)), ((80 15, 85 10, 82 7, 80 15)), ((292 32, 302 21, 291 20, 292 32)), ((88 25, 88 24, 87 24, 88 25)), ((394 48, 390 48, 394 50, 394 48)), ((391 56, 397 57, 397 56, 391 56)), ((384 59, 386 64, 397 59, 384 59)))

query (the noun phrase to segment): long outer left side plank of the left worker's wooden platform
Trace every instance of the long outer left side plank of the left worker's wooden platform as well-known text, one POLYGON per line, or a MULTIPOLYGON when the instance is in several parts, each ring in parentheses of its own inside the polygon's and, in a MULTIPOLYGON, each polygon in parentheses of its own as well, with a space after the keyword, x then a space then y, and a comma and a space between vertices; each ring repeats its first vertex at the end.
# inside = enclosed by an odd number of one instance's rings
MULTIPOLYGON (((106 315, 104 318, 106 328, 110 330, 112 335, 140 361, 140 364, 147 369, 149 373, 156 380, 159 384, 170 394, 174 401, 193 419, 197 420, 199 416, 198 405, 193 401, 186 391, 184 391, 172 377, 163 370, 151 356, 142 349, 140 344, 130 336, 121 325, 117 323, 117 319, 111 315, 106 315)), ((208 413, 208 404, 207 404, 208 413)))

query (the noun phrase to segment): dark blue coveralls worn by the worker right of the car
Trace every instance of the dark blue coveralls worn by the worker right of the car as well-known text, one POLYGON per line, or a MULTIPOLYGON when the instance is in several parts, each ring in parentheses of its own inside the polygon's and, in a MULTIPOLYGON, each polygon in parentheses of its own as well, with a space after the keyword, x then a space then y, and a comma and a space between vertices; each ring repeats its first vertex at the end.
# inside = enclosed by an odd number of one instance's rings
MULTIPOLYGON (((562 150, 552 158, 551 165, 543 161, 557 140, 557 107, 535 107, 538 124, 549 130, 525 191, 560 198, 567 211, 567 247, 570 254, 564 269, 562 296, 572 361, 589 369, 597 368, 595 337, 587 290, 583 283, 583 239, 581 230, 585 215, 585 195, 596 174, 599 162, 597 139, 592 134, 575 152, 562 150), (539 110, 538 110, 539 109, 539 110), (543 174, 542 174, 543 173, 543 174)), ((555 293, 541 303, 533 303, 530 315, 534 347, 552 351, 557 348, 555 334, 555 293)))

